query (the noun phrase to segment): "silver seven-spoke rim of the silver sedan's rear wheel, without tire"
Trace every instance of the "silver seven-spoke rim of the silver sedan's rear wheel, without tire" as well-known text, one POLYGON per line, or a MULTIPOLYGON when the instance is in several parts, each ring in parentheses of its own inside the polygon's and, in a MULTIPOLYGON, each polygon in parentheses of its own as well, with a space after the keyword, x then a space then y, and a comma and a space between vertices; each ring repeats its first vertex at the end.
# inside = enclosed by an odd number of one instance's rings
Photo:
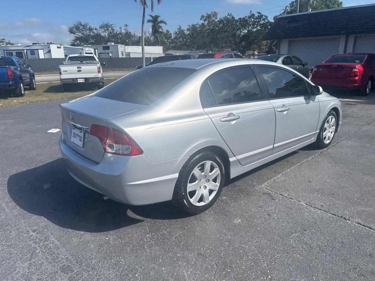
POLYGON ((203 206, 216 195, 220 186, 221 173, 213 161, 204 161, 192 171, 187 183, 187 198, 195 206, 203 206))

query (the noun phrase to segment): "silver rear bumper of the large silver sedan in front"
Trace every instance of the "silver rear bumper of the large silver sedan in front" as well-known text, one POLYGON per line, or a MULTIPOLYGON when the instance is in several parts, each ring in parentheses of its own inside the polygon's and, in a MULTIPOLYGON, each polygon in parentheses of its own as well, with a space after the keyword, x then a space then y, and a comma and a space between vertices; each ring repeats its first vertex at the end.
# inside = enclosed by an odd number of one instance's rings
POLYGON ((147 205, 172 199, 181 159, 151 163, 143 154, 105 153, 101 163, 96 163, 75 152, 61 137, 60 151, 73 178, 117 202, 147 205))

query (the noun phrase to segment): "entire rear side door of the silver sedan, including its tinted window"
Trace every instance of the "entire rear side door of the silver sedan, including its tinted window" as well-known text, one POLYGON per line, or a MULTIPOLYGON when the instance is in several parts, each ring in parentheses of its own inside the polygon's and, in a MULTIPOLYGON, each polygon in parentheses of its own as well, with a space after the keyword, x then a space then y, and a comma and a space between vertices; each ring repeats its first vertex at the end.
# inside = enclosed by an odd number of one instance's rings
POLYGON ((250 66, 214 73, 200 89, 202 107, 240 164, 272 154, 275 111, 250 66))

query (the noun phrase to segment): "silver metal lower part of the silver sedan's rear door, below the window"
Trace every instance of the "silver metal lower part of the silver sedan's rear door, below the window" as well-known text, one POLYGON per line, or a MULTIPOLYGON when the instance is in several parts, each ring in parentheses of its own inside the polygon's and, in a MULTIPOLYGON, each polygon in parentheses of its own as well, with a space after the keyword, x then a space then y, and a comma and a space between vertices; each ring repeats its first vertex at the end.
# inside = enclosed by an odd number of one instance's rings
POLYGON ((204 111, 242 165, 272 154, 275 112, 268 100, 205 108, 204 111), (239 118, 224 121, 228 117, 239 118))

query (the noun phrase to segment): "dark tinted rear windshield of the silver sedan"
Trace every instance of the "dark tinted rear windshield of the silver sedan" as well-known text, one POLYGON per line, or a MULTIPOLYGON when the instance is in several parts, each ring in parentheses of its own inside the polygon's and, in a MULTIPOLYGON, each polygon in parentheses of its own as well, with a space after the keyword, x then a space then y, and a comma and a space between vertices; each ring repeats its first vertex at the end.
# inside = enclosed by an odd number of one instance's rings
POLYGON ((120 102, 149 105, 177 86, 195 69, 146 67, 113 82, 94 96, 120 102))

